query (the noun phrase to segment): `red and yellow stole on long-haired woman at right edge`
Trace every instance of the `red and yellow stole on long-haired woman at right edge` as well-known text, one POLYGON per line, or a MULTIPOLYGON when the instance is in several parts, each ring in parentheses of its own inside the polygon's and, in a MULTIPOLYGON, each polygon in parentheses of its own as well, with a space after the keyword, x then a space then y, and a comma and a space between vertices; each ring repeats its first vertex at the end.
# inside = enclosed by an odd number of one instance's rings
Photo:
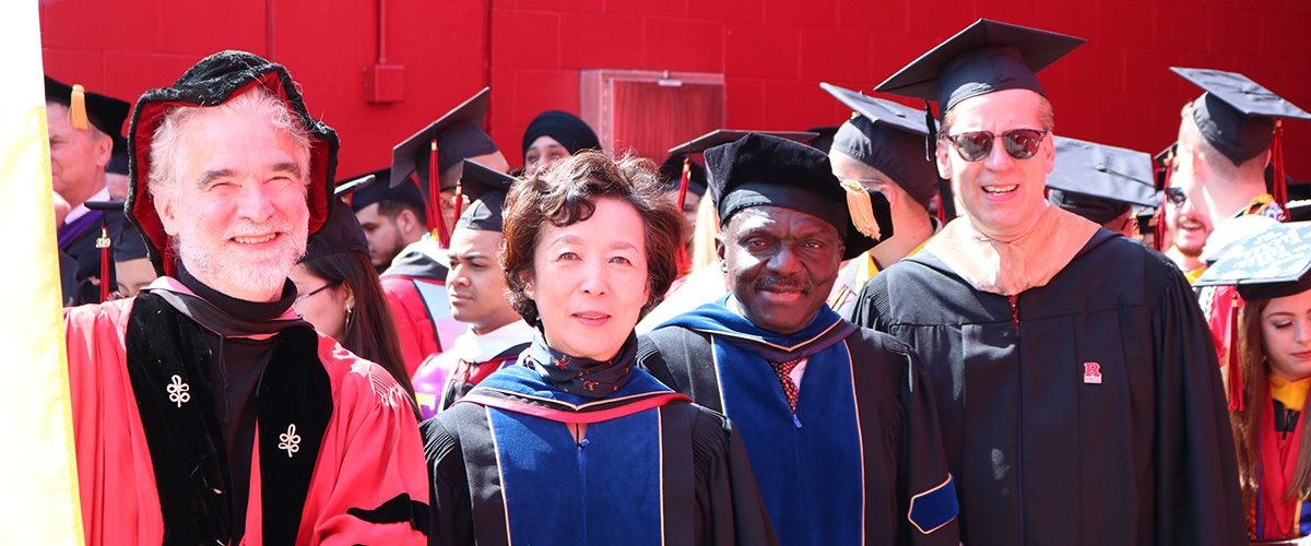
MULTIPOLYGON (((1278 388, 1277 377, 1270 377, 1270 390, 1265 399, 1265 415, 1261 418, 1261 477, 1260 494, 1257 495, 1257 532, 1264 539, 1297 538, 1303 536, 1303 524, 1299 512, 1303 512, 1302 499, 1294 492, 1289 500, 1283 500, 1285 492, 1293 483, 1298 470, 1298 456, 1302 448, 1302 431, 1306 428, 1301 416, 1293 424, 1293 433, 1286 435, 1276 431, 1274 401, 1278 399, 1285 407, 1302 409, 1306 403, 1304 389, 1289 389, 1295 386, 1285 385, 1278 388), (1278 389, 1278 390, 1277 390, 1278 389), (1302 399, 1281 399, 1287 395, 1301 394, 1302 399)), ((1285 381, 1285 384, 1287 384, 1285 381)))

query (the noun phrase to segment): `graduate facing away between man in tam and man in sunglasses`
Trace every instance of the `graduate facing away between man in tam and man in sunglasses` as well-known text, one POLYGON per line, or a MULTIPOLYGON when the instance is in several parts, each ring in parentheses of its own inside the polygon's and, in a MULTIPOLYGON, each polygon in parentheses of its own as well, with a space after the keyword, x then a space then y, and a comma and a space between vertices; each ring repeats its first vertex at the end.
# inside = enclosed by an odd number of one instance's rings
POLYGON ((941 223, 928 209, 939 194, 937 172, 924 161, 924 113, 851 89, 819 84, 852 110, 829 148, 832 173, 871 190, 882 191, 893 211, 897 233, 852 258, 838 272, 829 306, 848 314, 856 292, 869 278, 915 254, 937 233, 941 223))

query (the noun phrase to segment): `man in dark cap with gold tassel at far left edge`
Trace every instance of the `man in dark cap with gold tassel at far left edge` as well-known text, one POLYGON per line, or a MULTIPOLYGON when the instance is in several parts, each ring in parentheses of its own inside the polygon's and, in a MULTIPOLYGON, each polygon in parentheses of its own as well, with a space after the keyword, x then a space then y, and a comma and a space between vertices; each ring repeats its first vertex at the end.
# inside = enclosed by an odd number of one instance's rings
POLYGON ((76 262, 76 268, 60 267, 60 284, 75 287, 64 292, 64 305, 100 302, 102 287, 114 287, 113 268, 101 279, 102 241, 123 230, 123 211, 92 211, 85 203, 110 200, 105 169, 114 152, 126 151, 123 120, 131 106, 50 76, 46 102, 55 105, 49 109, 54 189, 72 207, 56 229, 59 251, 76 262))

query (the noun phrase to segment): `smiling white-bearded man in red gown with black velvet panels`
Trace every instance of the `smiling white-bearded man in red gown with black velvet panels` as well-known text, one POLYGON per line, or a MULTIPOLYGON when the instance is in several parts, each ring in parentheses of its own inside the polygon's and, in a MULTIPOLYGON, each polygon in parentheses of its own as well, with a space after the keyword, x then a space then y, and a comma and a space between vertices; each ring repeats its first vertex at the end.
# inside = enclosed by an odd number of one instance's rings
POLYGON ((423 543, 405 391, 291 310, 337 134, 241 51, 147 92, 127 213, 163 275, 66 310, 87 543, 423 543))

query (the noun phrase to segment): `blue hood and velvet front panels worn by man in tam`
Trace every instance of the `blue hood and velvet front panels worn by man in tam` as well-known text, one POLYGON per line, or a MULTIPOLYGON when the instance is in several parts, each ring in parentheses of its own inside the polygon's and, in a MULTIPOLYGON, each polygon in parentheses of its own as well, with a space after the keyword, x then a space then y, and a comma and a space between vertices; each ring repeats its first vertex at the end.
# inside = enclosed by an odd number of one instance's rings
POLYGON ((844 342, 857 326, 822 306, 805 327, 784 335, 756 327, 726 301, 670 323, 711 335, 724 414, 742 435, 779 541, 861 543, 865 454, 844 342), (770 361, 798 357, 808 360, 793 414, 770 361))

